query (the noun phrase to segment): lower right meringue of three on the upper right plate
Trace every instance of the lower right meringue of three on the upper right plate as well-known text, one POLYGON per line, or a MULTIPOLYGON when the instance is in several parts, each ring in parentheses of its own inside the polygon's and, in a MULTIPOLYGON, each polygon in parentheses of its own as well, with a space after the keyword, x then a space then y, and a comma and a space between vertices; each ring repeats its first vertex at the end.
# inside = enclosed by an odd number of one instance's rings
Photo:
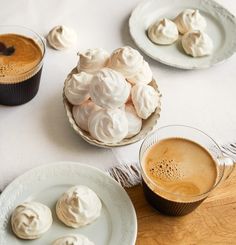
POLYGON ((182 46, 184 51, 193 57, 210 55, 213 51, 213 42, 203 31, 191 31, 184 34, 182 46))

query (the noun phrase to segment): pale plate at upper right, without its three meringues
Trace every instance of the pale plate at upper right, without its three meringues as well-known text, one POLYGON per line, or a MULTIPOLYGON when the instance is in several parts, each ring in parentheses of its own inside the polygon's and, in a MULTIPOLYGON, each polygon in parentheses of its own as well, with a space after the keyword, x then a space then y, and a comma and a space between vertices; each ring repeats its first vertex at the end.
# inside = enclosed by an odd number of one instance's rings
POLYGON ((132 12, 129 29, 134 42, 144 53, 177 68, 208 68, 236 51, 236 19, 212 0, 144 0, 132 12), (206 18, 206 32, 214 43, 212 55, 200 58, 188 56, 180 39, 169 46, 156 45, 148 39, 146 31, 153 22, 164 17, 173 19, 186 8, 199 9, 206 18))

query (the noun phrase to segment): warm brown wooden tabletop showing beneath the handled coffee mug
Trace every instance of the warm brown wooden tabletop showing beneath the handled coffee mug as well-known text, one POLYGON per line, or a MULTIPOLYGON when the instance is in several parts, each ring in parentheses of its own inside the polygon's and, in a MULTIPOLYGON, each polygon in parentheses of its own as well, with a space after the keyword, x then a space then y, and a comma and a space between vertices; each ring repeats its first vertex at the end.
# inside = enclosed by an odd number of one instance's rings
POLYGON ((236 244, 236 170, 195 211, 182 217, 155 211, 141 186, 127 192, 138 217, 136 245, 236 244))

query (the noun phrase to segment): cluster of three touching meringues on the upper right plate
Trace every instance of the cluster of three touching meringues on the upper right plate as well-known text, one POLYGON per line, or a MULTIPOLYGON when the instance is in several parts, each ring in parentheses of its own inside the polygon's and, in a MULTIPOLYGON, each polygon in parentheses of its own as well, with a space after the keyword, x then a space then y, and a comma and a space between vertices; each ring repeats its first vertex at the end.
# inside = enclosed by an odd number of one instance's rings
POLYGON ((162 19, 148 28, 148 37, 155 44, 170 45, 182 34, 186 54, 201 57, 212 54, 213 42, 204 32, 207 22, 197 9, 186 9, 173 21, 162 19))

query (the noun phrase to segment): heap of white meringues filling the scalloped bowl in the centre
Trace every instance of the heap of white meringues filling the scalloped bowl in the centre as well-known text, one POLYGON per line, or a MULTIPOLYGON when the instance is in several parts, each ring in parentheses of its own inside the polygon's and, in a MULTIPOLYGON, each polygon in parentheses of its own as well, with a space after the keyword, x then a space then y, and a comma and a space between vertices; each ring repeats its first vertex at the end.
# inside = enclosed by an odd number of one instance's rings
POLYGON ((101 49, 79 54, 77 67, 65 81, 79 128, 103 143, 118 143, 138 134, 159 104, 150 85, 152 71, 143 56, 126 46, 111 55, 101 49))

